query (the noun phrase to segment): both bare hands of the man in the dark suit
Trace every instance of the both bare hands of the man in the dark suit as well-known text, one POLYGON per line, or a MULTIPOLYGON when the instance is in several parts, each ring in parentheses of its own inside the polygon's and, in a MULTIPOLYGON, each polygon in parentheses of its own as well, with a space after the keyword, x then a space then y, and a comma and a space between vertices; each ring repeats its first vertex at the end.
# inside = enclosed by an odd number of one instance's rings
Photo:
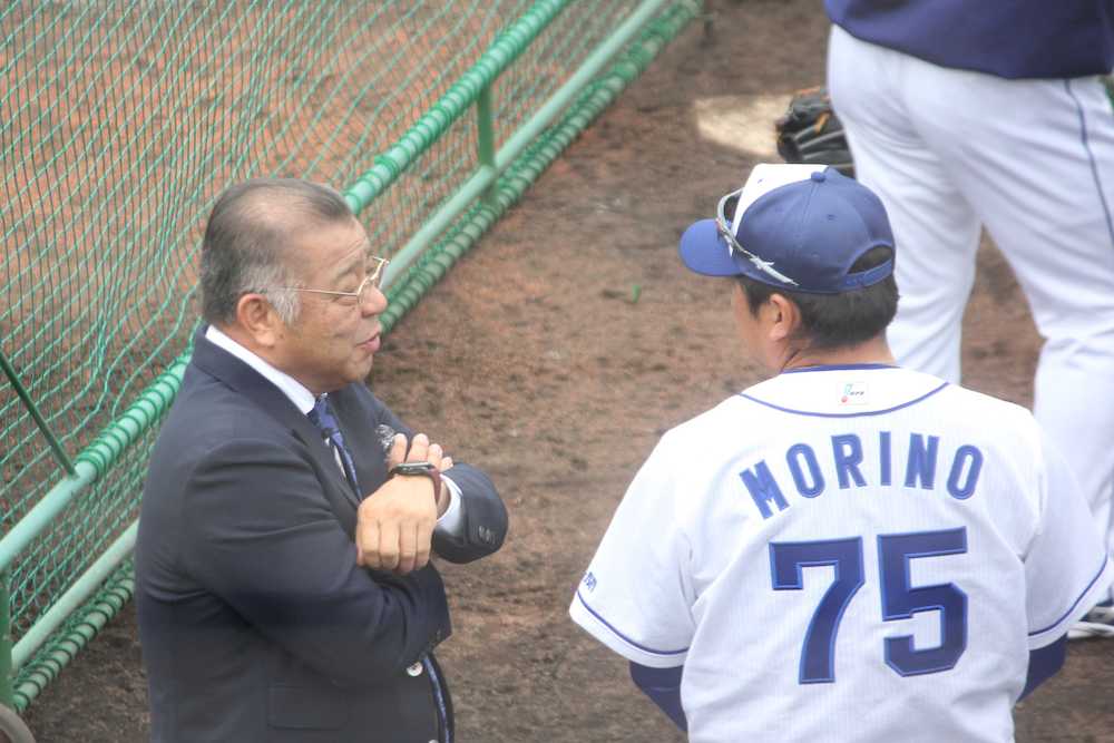
MULTIPOLYGON (((430 443, 419 433, 410 442, 397 433, 387 458, 390 469, 403 461, 433 463, 440 471, 452 467, 440 444, 430 443)), ((393 570, 405 575, 429 563, 433 527, 449 505, 449 490, 442 482, 441 492, 431 497, 432 481, 426 477, 392 477, 363 499, 356 512, 356 564, 377 570, 393 570)))

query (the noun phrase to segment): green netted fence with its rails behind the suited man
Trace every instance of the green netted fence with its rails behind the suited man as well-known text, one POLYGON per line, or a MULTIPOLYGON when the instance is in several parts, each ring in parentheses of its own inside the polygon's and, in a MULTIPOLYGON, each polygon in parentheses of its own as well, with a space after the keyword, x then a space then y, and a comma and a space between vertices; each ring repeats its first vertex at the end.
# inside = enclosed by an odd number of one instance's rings
POLYGON ((698 0, 0 9, 0 703, 131 596, 147 452, 188 363, 225 186, 348 186, 390 330, 698 0))

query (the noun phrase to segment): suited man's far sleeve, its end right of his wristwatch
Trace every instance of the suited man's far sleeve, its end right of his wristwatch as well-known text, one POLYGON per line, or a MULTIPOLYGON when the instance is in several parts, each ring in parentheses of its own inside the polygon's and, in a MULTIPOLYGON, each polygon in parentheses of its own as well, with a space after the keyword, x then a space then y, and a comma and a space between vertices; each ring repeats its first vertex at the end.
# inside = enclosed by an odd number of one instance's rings
MULTIPOLYGON (((409 426, 378 399, 378 417, 392 430, 413 436, 409 426)), ((433 531, 433 550, 449 563, 471 563, 491 555, 507 536, 507 508, 491 479, 471 465, 453 462, 446 477, 460 488, 463 528, 458 534, 433 531)))

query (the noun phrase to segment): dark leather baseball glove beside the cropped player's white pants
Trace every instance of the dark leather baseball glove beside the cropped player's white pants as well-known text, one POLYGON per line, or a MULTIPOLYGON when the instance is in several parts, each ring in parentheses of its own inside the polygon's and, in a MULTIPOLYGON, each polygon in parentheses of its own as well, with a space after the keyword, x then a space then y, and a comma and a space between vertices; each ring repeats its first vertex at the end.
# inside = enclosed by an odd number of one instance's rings
POLYGON ((854 177, 854 163, 843 125, 832 110, 825 88, 798 91, 774 128, 778 154, 786 163, 831 165, 843 175, 854 177))

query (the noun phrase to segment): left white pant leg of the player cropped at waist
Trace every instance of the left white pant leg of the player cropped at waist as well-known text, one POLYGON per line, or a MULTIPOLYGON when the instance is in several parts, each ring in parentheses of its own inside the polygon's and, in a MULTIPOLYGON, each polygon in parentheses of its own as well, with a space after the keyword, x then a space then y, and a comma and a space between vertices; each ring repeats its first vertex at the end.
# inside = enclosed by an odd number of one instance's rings
POLYGON ((890 348, 902 365, 958 383, 980 225, 911 119, 902 90, 907 59, 832 27, 828 89, 856 177, 882 199, 897 242, 901 299, 887 332, 890 348))

